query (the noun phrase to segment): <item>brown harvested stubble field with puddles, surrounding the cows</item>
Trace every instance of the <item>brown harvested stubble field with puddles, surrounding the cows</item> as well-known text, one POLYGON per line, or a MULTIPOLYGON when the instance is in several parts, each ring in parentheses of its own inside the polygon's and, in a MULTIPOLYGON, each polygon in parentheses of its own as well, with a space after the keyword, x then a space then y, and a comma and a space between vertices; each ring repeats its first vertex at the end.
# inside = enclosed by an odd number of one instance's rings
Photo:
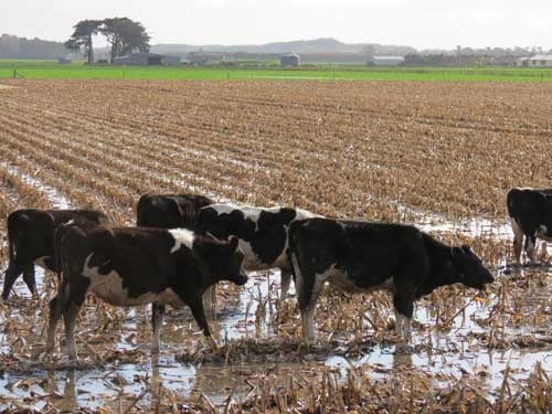
MULTIPOLYGON (((89 206, 132 223, 146 192, 406 222, 469 243, 497 280, 417 302, 397 347, 391 298, 328 290, 299 343, 279 275, 222 286, 219 352, 188 310, 149 353, 149 309, 91 298, 81 363, 44 351, 55 277, 0 304, 7 412, 552 412, 552 282, 511 266, 506 193, 551 187, 552 85, 384 82, 2 82, 0 232, 10 211, 89 206), (47 361, 47 362, 46 362, 47 361)), ((550 252, 552 253, 552 251, 550 252)), ((7 263, 6 243, 0 269, 7 263)), ((60 338, 62 329, 60 329, 60 338)))

